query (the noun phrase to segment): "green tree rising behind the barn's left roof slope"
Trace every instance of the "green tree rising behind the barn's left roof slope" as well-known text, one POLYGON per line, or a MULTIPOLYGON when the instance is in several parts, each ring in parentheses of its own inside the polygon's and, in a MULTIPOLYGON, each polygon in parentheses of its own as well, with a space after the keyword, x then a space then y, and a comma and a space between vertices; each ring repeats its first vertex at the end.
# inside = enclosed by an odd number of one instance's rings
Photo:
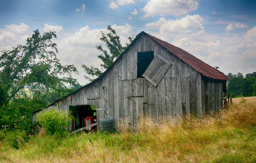
MULTIPOLYGON (((86 65, 82 65, 82 68, 84 68, 84 71, 88 75, 100 76, 103 73, 103 71, 109 68, 112 65, 112 63, 115 61, 115 59, 117 59, 119 55, 121 55, 123 51, 133 41, 133 38, 129 37, 128 38, 129 43, 126 43, 125 46, 122 46, 120 42, 120 37, 117 36, 117 33, 113 28, 110 27, 110 25, 108 25, 108 30, 110 31, 110 33, 108 33, 107 35, 105 35, 105 33, 101 31, 102 37, 100 38, 101 41, 105 42, 108 50, 103 49, 102 45, 96 46, 96 48, 100 50, 100 52, 102 52, 101 55, 98 55, 98 58, 100 58, 101 61, 103 62, 100 65, 101 69, 93 66, 89 67, 86 65)), ((88 76, 84 76, 84 78, 88 79, 89 81, 93 81, 93 79, 90 79, 88 76)))

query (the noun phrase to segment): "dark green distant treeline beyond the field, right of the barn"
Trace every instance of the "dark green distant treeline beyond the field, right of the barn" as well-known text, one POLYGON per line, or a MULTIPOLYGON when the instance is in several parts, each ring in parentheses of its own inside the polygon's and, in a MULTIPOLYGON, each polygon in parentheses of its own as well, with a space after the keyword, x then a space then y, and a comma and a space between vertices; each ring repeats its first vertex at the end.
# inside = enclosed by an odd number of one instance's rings
POLYGON ((229 73, 228 76, 232 79, 228 81, 228 92, 232 93, 232 97, 247 97, 256 96, 256 72, 246 74, 229 73))

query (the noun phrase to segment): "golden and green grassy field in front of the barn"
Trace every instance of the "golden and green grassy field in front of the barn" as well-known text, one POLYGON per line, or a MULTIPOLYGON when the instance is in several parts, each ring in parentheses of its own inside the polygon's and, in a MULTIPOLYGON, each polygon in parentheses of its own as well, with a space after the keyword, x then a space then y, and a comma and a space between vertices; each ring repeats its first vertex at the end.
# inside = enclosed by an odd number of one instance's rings
POLYGON ((256 102, 233 101, 203 117, 142 118, 135 132, 125 120, 119 132, 62 139, 2 132, 0 162, 256 162, 256 102))

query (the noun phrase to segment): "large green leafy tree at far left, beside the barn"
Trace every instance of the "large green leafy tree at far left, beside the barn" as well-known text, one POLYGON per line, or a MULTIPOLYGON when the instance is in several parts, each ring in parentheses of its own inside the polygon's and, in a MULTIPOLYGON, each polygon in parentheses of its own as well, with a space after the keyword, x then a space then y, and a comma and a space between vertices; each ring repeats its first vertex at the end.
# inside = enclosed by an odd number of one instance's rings
POLYGON ((76 79, 72 72, 78 74, 73 65, 63 66, 57 59, 55 32, 40 35, 34 31, 32 37, 27 38, 25 45, 13 47, 13 50, 3 50, 0 55, 0 109, 10 100, 19 97, 19 91, 30 88, 34 96, 64 86, 64 83, 74 85, 76 79), (68 77, 60 78, 67 74, 68 77))

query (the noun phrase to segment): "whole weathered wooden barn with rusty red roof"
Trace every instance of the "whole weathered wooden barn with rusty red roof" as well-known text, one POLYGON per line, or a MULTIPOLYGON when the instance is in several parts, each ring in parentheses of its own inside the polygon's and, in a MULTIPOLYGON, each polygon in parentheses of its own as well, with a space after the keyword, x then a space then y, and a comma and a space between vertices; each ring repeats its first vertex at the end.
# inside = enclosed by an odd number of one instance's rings
MULTIPOLYGON (((106 108, 106 117, 113 117, 114 122, 129 117, 135 126, 139 115, 203 114, 221 109, 226 79, 192 54, 141 32, 96 80, 44 109, 72 110, 76 119, 70 130, 84 126, 84 118, 93 114, 90 105, 106 108)), ((104 117, 102 109, 96 109, 97 122, 104 117)), ((33 112, 33 121, 40 111, 33 112)))

